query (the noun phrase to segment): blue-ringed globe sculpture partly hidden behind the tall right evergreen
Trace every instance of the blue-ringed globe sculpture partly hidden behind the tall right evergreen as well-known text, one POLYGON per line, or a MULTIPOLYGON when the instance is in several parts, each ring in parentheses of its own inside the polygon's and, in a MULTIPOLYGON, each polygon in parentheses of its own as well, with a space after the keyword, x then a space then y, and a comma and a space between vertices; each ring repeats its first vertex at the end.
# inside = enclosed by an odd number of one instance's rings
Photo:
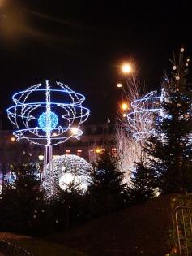
POLYGON ((156 91, 147 93, 143 98, 131 102, 132 111, 128 113, 127 120, 134 138, 140 141, 154 133, 154 114, 163 115, 160 102, 164 98, 164 91, 161 96, 156 91))

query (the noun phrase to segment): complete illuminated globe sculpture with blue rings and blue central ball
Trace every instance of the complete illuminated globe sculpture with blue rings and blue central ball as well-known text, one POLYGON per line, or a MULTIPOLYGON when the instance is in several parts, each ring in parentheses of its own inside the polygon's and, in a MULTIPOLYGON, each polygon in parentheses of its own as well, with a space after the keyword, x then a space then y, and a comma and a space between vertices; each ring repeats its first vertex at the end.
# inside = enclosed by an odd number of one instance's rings
MULTIPOLYGON (((90 111, 82 106, 85 97, 61 82, 37 84, 15 93, 15 106, 7 109, 15 125, 17 140, 26 139, 45 146, 44 167, 52 162, 52 147, 83 134, 80 124, 90 111)), ((50 164, 50 172, 52 170, 50 164)))

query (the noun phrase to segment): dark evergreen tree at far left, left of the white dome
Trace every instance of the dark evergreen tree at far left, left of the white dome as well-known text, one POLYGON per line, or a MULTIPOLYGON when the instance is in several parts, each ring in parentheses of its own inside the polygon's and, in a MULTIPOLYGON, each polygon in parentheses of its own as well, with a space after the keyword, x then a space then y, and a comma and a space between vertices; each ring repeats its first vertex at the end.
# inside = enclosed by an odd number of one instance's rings
POLYGON ((27 155, 19 158, 18 162, 12 170, 14 180, 7 183, 2 191, 0 221, 6 230, 37 235, 41 232, 46 208, 38 166, 31 163, 27 155))

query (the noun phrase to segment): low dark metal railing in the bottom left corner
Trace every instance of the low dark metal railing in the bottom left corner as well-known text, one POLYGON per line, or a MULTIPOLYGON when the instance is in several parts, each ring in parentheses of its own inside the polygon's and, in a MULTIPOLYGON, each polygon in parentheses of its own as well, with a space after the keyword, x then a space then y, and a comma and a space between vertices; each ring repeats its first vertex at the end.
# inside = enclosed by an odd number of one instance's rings
POLYGON ((0 240, 0 253, 5 256, 34 256, 26 249, 5 240, 0 240))

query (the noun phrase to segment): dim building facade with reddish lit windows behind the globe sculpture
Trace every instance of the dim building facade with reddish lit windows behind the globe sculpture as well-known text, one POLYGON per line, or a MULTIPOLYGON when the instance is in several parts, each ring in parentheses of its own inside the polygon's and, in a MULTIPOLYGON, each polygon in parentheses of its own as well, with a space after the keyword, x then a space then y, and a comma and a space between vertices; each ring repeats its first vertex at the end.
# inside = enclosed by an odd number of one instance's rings
MULTIPOLYGON (((70 139, 65 143, 53 146, 53 158, 62 154, 76 154, 89 163, 96 161, 99 154, 106 149, 116 155, 113 124, 83 125, 83 135, 79 140, 70 139)), ((12 131, 0 130, 0 174, 6 175, 11 164, 22 154, 29 154, 32 161, 42 161, 44 148, 27 140, 17 141, 12 131)), ((0 176, 0 180, 2 177, 0 176)))

